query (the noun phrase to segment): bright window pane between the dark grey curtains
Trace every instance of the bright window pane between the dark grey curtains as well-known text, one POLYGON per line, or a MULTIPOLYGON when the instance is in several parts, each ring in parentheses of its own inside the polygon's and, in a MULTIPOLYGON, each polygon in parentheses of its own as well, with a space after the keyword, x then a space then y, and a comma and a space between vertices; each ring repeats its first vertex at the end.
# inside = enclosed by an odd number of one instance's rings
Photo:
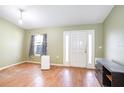
POLYGON ((34 54, 35 56, 40 56, 43 43, 43 35, 35 35, 34 40, 34 54))

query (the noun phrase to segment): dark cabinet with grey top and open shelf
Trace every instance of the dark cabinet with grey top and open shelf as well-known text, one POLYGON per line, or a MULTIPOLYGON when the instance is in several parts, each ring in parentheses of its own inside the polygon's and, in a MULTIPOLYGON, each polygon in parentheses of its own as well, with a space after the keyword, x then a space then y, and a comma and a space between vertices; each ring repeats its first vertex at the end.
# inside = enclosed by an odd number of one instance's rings
POLYGON ((97 60, 96 77, 101 86, 124 87, 124 66, 107 60, 97 60))

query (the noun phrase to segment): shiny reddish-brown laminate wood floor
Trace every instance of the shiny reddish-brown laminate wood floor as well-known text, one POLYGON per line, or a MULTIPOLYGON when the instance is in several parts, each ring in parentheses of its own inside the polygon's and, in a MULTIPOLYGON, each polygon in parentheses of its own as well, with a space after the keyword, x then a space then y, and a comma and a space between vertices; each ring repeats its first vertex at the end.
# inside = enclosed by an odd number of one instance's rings
POLYGON ((0 71, 0 87, 100 87, 94 70, 23 63, 0 71))

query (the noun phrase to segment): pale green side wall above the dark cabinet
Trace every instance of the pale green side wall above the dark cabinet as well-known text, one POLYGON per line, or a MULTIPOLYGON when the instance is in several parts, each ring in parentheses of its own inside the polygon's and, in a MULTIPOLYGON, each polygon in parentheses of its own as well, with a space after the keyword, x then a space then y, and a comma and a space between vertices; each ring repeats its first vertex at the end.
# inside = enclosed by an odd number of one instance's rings
POLYGON ((104 22, 104 57, 124 64, 124 6, 115 6, 104 22))

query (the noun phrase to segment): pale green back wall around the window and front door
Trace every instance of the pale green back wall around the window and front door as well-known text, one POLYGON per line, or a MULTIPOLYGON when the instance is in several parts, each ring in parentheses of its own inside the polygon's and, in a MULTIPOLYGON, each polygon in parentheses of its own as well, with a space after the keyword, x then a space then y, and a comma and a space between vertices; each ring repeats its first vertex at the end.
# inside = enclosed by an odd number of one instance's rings
POLYGON ((32 34, 48 34, 48 54, 51 56, 51 62, 62 64, 63 62, 63 32, 69 30, 95 30, 95 57, 103 57, 103 49, 99 49, 99 46, 103 46, 103 24, 94 25, 78 25, 78 26, 66 26, 56 28, 39 28, 33 30, 27 30, 25 34, 25 60, 40 61, 40 57, 29 58, 29 45, 30 37, 32 34), (59 56, 59 58, 57 58, 59 56))

